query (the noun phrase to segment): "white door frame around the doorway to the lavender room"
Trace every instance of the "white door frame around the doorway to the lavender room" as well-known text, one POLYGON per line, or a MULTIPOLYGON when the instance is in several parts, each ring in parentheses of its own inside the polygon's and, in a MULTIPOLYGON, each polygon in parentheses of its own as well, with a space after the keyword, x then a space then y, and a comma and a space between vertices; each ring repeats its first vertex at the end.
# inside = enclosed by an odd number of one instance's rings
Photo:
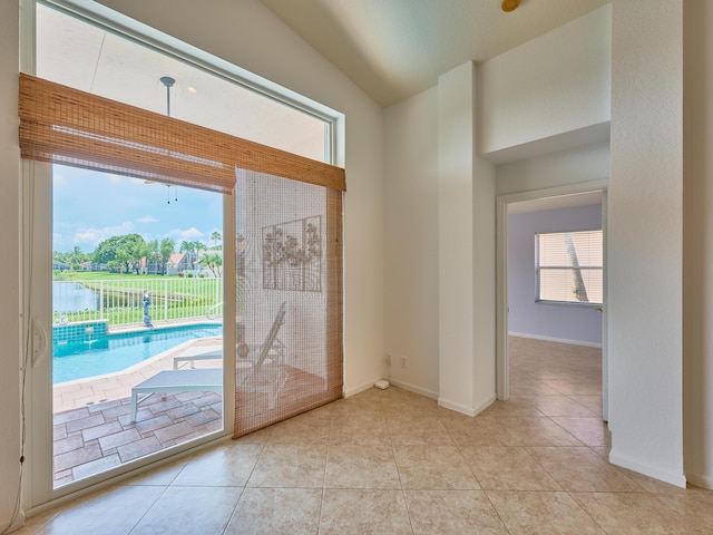
POLYGON ((508 362, 508 204, 547 197, 602 192, 602 230, 604 233, 604 303, 602 313, 602 417, 611 417, 611 366, 607 351, 607 188, 608 179, 580 182, 564 186, 530 189, 496 196, 496 392, 497 398, 510 396, 508 362))

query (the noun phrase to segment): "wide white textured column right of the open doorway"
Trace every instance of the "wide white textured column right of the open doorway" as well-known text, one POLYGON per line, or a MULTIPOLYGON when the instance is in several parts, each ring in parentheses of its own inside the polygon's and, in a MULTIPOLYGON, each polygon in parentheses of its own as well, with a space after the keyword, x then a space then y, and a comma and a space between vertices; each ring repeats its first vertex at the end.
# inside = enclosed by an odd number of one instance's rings
POLYGON ((612 463, 683 476, 683 1, 614 2, 612 463))

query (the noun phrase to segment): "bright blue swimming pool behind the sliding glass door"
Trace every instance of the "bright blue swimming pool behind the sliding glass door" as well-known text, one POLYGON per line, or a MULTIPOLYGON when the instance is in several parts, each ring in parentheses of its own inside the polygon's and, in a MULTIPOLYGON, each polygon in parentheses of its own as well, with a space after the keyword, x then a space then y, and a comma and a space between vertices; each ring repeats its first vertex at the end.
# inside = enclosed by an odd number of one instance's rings
POLYGON ((52 347, 52 382, 74 381, 121 371, 188 340, 222 334, 221 325, 208 323, 123 332, 82 342, 56 343, 52 347))

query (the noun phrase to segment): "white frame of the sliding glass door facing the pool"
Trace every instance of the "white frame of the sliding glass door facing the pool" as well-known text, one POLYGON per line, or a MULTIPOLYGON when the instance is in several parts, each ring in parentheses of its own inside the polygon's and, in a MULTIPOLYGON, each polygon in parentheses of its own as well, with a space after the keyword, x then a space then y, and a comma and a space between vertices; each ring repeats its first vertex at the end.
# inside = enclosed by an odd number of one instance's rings
POLYGON ((23 288, 30 318, 26 335, 30 339, 28 389, 25 396, 27 420, 28 481, 23 485, 27 514, 64 503, 67 498, 101 488, 136 474, 139 468, 157 466, 178 455, 224 440, 233 435, 235 421, 235 203, 223 195, 224 313, 223 313, 223 428, 184 444, 162 448, 117 467, 55 488, 53 485, 53 385, 52 385, 52 165, 22 160, 23 202, 23 288))

